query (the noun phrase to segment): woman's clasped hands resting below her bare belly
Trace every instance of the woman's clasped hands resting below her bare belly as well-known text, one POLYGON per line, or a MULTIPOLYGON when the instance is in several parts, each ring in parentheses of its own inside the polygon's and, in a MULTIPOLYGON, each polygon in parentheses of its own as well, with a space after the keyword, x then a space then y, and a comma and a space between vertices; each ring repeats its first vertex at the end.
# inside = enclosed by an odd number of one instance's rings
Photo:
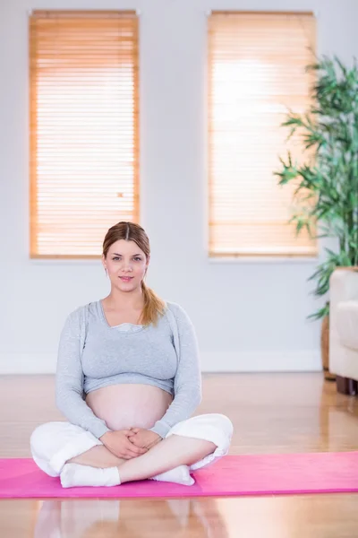
POLYGON ((158 433, 141 428, 107 431, 100 438, 112 454, 123 459, 141 456, 161 441, 158 433))

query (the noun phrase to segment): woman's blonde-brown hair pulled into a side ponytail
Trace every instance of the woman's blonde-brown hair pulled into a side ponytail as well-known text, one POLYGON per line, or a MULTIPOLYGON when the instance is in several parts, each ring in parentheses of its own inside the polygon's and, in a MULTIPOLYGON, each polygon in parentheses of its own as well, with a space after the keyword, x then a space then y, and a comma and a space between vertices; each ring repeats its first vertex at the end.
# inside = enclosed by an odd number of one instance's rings
MULTIPOLYGON (((148 259, 150 255, 149 237, 139 224, 135 222, 117 222, 106 234, 103 241, 103 256, 107 258, 109 248, 115 243, 124 239, 124 241, 134 241, 144 252, 148 259)), ((144 307, 141 312, 140 323, 142 325, 157 325, 159 316, 164 315, 166 302, 158 297, 151 290, 144 280, 141 281, 141 290, 144 297, 144 307)))

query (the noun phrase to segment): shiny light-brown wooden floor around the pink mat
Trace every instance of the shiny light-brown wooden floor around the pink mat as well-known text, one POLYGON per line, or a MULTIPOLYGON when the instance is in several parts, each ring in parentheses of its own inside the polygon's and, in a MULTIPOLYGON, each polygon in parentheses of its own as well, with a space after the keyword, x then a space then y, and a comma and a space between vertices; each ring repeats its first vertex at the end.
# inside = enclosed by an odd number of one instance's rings
MULTIPOLYGON (((358 398, 321 374, 209 374, 197 414, 234 422, 230 454, 358 449, 358 398)), ((61 420, 54 379, 0 377, 0 457, 61 420)), ((3 500, 1 538, 357 538, 358 494, 222 499, 3 500)))

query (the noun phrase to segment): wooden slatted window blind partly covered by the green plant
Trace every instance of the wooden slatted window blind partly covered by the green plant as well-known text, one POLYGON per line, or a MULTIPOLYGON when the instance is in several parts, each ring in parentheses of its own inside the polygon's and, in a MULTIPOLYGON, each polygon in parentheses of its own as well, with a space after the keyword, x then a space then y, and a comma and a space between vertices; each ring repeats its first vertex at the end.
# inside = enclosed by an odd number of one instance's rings
POLYGON ((209 256, 317 255, 288 224, 294 187, 274 176, 287 149, 305 159, 280 124, 310 104, 314 50, 311 13, 209 16, 209 256))

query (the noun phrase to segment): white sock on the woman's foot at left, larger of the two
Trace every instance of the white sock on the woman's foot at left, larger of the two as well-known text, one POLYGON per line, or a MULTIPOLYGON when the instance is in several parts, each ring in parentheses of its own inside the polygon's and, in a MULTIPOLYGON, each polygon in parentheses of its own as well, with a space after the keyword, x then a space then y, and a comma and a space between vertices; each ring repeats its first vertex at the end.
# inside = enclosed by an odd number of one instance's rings
POLYGON ((118 469, 100 469, 90 465, 65 464, 60 474, 63 488, 76 486, 118 486, 121 483, 118 469))

